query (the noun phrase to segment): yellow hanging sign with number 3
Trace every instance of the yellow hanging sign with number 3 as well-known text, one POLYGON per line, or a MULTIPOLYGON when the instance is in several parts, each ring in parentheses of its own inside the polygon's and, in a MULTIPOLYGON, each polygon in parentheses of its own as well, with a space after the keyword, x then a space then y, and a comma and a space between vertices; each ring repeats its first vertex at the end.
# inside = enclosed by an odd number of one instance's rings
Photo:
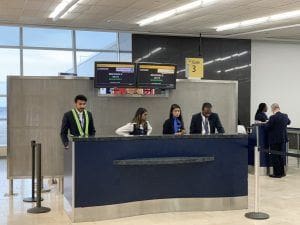
POLYGON ((187 78, 203 78, 203 58, 186 58, 185 71, 187 78))

